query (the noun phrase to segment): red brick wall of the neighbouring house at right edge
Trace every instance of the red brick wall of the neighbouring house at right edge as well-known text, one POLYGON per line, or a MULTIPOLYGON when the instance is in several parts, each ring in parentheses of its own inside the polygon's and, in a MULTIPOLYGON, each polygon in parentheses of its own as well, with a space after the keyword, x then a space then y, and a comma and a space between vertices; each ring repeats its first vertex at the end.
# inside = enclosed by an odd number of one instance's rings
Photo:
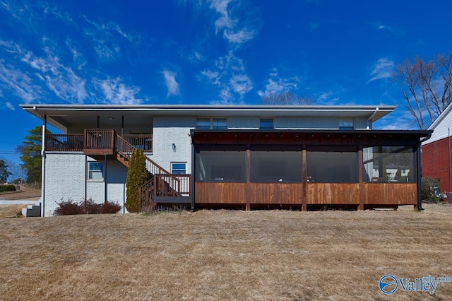
POLYGON ((441 180, 441 192, 446 191, 446 193, 452 192, 449 190, 448 160, 448 138, 422 146, 422 177, 439 178, 441 180))

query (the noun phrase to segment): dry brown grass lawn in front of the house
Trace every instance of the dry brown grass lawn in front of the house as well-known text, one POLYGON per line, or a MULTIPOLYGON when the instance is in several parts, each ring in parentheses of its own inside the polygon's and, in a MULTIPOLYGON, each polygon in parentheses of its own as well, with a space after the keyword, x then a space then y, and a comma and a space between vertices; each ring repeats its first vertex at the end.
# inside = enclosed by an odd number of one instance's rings
POLYGON ((452 276, 452 206, 0 220, 2 300, 448 300, 381 276, 452 276))

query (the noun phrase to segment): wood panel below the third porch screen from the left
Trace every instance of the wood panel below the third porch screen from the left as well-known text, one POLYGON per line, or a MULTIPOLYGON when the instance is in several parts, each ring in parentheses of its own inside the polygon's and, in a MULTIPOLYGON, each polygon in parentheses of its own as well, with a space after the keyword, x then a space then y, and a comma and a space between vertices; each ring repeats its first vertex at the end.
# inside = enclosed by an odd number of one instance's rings
POLYGON ((308 204, 359 204, 358 183, 308 183, 308 204))

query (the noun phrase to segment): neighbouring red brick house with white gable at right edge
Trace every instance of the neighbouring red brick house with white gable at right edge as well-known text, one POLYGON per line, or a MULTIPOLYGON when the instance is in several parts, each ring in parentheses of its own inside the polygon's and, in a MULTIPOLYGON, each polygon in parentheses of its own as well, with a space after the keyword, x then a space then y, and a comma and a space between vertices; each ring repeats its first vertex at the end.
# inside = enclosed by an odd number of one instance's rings
MULTIPOLYGON (((432 137, 422 143, 422 177, 439 179, 441 193, 452 192, 452 103, 429 126, 432 137)), ((451 196, 449 196, 451 199, 451 196)))

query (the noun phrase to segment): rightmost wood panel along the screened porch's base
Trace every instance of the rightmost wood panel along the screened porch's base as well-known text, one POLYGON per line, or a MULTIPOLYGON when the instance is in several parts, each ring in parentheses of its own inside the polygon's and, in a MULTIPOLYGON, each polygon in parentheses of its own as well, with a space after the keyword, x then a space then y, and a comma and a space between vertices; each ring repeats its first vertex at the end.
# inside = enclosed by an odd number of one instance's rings
POLYGON ((416 183, 364 183, 364 204, 416 205, 416 183))

